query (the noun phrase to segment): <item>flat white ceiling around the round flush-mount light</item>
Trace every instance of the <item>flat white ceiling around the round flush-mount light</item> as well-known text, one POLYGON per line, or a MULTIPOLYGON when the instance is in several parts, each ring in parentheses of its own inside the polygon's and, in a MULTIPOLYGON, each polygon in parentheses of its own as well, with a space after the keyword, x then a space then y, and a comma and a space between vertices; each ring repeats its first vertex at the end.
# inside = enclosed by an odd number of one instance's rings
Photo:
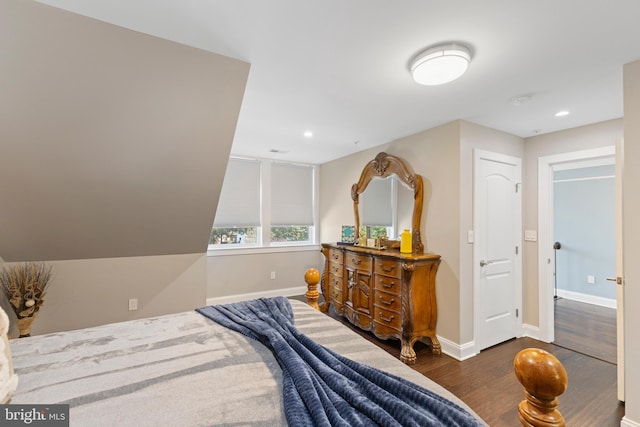
POLYGON ((232 153, 310 163, 456 119, 529 137, 619 118, 640 59, 638 0, 39 1, 251 63, 232 153), (447 41, 467 73, 414 83, 410 59, 447 41))

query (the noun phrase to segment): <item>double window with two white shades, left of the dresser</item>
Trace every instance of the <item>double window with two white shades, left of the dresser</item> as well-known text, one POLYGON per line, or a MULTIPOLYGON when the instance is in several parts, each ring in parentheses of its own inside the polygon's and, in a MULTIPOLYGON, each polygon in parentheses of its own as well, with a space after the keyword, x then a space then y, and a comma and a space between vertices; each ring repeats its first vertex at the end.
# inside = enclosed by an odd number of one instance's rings
POLYGON ((313 165, 229 159, 209 249, 315 243, 313 165))

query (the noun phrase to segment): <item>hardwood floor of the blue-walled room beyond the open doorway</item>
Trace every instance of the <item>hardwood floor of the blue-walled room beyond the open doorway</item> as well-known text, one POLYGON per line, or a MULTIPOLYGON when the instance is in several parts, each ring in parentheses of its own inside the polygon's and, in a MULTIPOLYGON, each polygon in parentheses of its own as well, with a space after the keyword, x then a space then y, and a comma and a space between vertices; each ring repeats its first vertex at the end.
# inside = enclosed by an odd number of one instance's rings
POLYGON ((554 344, 616 363, 615 309, 559 298, 554 313, 554 344))

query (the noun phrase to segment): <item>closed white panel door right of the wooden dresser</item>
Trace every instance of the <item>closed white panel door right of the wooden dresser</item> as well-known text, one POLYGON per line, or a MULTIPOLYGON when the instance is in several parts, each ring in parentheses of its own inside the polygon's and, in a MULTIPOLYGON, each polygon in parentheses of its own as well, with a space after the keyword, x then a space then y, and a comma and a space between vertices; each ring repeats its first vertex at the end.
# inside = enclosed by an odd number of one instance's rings
POLYGON ((521 159, 476 150, 474 279, 478 349, 519 335, 522 320, 521 159))

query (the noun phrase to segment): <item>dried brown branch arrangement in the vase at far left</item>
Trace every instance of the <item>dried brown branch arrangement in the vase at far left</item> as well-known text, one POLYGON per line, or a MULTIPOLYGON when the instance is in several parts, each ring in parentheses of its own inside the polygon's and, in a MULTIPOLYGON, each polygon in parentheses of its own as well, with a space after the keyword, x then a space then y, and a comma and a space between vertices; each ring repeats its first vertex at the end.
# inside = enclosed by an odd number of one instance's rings
POLYGON ((0 271, 0 288, 18 319, 32 317, 40 310, 52 277, 51 268, 42 262, 26 262, 0 271))

